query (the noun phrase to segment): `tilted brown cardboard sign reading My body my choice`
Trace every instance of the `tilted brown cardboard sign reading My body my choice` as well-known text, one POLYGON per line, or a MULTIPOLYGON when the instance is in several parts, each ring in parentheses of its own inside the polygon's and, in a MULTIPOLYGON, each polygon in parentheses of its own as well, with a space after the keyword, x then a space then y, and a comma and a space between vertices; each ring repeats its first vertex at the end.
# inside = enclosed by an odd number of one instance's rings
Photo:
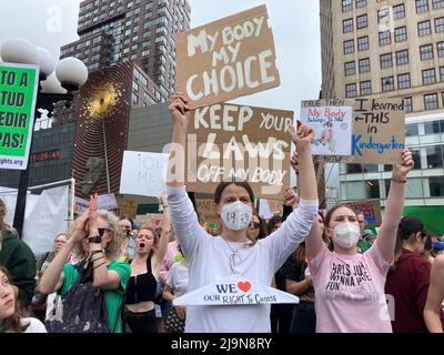
POLYGON ((280 85, 265 6, 176 33, 176 85, 191 109, 280 85))

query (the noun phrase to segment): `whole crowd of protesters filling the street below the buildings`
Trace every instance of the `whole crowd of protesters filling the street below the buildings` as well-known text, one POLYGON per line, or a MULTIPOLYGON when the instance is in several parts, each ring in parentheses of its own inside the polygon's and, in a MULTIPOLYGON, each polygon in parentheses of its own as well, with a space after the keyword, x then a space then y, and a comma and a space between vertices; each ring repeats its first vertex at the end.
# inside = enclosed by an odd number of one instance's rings
MULTIPOLYGON (((176 93, 170 105, 172 141, 182 146, 186 103, 176 93)), ((255 211, 250 184, 233 179, 214 191, 220 225, 201 221, 180 179, 184 172, 175 171, 160 196, 160 229, 135 229, 130 217, 99 210, 93 195, 53 250, 36 260, 4 223, 0 200, 0 333, 443 332, 444 241, 418 219, 402 216, 411 152, 393 166, 376 235, 346 204, 325 216, 319 211, 312 138, 307 125, 290 126, 299 189, 286 189, 282 215, 269 220, 255 211), (174 304, 230 275, 296 295, 299 303, 174 304)))

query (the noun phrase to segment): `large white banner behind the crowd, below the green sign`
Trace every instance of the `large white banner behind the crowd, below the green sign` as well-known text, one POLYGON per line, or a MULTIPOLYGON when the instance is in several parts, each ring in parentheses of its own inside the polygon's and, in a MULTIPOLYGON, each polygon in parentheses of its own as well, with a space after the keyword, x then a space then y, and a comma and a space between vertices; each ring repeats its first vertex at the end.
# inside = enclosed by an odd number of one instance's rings
MULTIPOLYGON (((0 191, 7 206, 4 221, 12 225, 17 190, 0 187, 0 191)), ((34 254, 52 251, 57 234, 68 232, 68 186, 47 189, 40 195, 27 195, 22 240, 34 254)))

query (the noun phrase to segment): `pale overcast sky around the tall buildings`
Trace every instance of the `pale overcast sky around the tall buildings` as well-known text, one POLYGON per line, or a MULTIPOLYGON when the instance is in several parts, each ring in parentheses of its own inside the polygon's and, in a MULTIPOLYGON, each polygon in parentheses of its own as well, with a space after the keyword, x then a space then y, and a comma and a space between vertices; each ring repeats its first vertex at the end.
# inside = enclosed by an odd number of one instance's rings
MULTIPOLYGON (((281 85, 235 102, 299 112, 300 101, 316 99, 321 88, 319 1, 189 0, 198 27, 259 4, 266 4, 274 33, 281 85)), ((79 0, 0 0, 0 43, 28 38, 56 57, 78 39, 79 0)))

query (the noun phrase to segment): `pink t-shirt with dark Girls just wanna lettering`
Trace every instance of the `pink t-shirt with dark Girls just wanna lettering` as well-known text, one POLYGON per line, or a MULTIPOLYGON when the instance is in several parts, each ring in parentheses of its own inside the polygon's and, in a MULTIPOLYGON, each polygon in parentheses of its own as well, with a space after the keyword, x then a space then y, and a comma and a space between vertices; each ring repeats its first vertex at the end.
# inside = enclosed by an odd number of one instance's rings
POLYGON ((353 256, 323 246, 309 267, 316 295, 317 333, 392 333, 384 295, 390 263, 377 243, 353 256))

